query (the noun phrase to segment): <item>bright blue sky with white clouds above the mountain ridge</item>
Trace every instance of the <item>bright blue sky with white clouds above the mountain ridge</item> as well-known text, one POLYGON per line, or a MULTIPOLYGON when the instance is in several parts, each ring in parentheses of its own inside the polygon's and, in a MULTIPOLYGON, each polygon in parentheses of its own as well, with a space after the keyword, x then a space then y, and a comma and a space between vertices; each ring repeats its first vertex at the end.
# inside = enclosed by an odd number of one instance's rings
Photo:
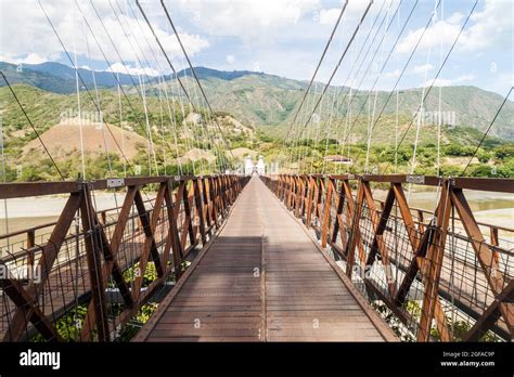
MULTIPOLYGON (((369 2, 348 0, 317 81, 326 82, 344 54, 333 84, 380 90, 391 90, 397 81, 400 89, 462 84, 501 95, 513 86, 513 1, 479 0, 463 28, 475 0, 375 0, 356 32, 369 2)), ((140 3, 174 66, 184 67, 159 1, 140 3)), ((346 0, 165 3, 193 65, 310 80, 346 0)), ((41 4, 42 9, 37 0, 0 2, 0 61, 72 65, 76 58, 78 66, 97 70, 170 72, 134 2, 41 0, 41 4)))

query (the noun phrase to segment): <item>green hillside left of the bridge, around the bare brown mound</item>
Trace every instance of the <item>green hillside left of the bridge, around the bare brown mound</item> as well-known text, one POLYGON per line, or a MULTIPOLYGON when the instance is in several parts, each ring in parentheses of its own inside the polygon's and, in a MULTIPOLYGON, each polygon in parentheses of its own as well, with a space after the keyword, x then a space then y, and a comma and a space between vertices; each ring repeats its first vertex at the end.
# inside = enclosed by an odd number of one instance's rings
MULTIPOLYGON (((62 125, 63 122, 69 123, 69 119, 77 119, 78 107, 76 94, 56 94, 24 84, 15 84, 13 86, 13 90, 18 99, 21 99, 37 132, 43 138, 46 132, 53 127, 62 125)), ((94 92, 92 95, 94 95, 94 92)), ((117 93, 112 90, 100 90, 99 96, 101 99, 104 122, 107 123, 110 128, 119 127, 117 93)), ((144 138, 143 140, 146 140, 144 108, 140 99, 134 94, 129 94, 129 100, 124 99, 121 103, 125 132, 140 135, 144 138)), ((183 159, 184 156, 189 156, 188 152, 191 153, 191 151, 202 150, 206 151, 207 154, 202 155, 202 153, 200 153, 201 157, 193 157, 193 161, 182 161, 182 171, 202 172, 202 169, 206 168, 207 165, 205 160, 202 160, 202 156, 208 157, 208 159, 219 159, 221 158, 220 154, 227 152, 229 155, 226 147, 221 148, 223 145, 222 136, 205 112, 201 110, 198 115, 202 118, 202 122, 206 125, 208 133, 205 127, 193 123, 189 119, 188 116, 191 115, 192 112, 188 106, 184 106, 182 113, 181 106, 172 101, 170 103, 170 112, 167 110, 167 106, 163 112, 160 112, 160 103, 157 98, 147 99, 149 123, 160 172, 177 173, 178 166, 176 158, 183 159), (192 164, 194 164, 194 167, 192 164)), ((4 154, 8 156, 8 181, 56 179, 57 176, 51 166, 50 159, 44 154, 37 140, 36 133, 33 131, 7 87, 0 88, 0 114, 2 116, 4 154), (35 151, 27 151, 27 145, 31 142, 38 147, 35 151), (35 164, 35 161, 38 162, 35 164), (23 167, 23 176, 16 173, 16 169, 18 169, 20 166, 23 167)), ((81 114, 82 119, 85 119, 85 125, 88 125, 90 121, 94 123, 99 119, 97 117, 97 107, 86 92, 81 92, 81 114)), ((227 114, 219 114, 217 120, 223 128, 223 133, 233 147, 254 146, 253 143, 257 138, 257 132, 254 128, 240 123, 227 114), (242 145, 243 141, 244 145, 242 145)), ((73 123, 72 121, 72 125, 73 123)), ((75 125, 78 126, 77 122, 75 122, 75 125)), ((76 131, 73 131, 76 133, 74 141, 79 139, 79 128, 76 127, 75 129, 76 131)), ((52 151, 52 155, 57 160, 65 177, 68 179, 76 178, 80 171, 80 151, 64 152, 65 145, 61 147, 62 142, 59 139, 47 139, 46 143, 52 151)), ((140 174, 147 174, 146 144, 140 143, 137 146, 139 153, 129 162, 133 166, 141 166, 140 174)), ((121 174, 124 164, 119 147, 111 143, 111 150, 108 152, 112 157, 112 162, 114 164, 113 173, 121 174)), ((193 152, 193 156, 196 155, 198 155, 198 152, 193 152)), ((104 178, 110 176, 110 171, 107 171, 107 159, 103 152, 100 155, 89 154, 87 157, 87 170, 90 172, 90 177, 104 178)))

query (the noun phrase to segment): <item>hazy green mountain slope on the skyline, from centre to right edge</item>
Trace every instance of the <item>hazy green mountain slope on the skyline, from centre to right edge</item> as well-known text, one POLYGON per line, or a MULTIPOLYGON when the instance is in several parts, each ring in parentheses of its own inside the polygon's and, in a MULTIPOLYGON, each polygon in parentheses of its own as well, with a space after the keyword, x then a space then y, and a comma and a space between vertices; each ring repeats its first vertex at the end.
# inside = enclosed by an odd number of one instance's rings
MULTIPOLYGON (((183 79, 182 80, 188 80, 183 79)), ((189 79, 191 80, 191 79, 189 79)), ((215 75, 201 76, 207 95, 216 109, 230 112, 239 119, 255 126, 290 125, 297 106, 307 89, 307 82, 291 80, 266 74, 248 74, 231 80, 221 79, 215 75)), ((192 80, 189 86, 192 86, 192 80)), ((317 83, 314 92, 320 93, 323 84, 317 83)), ((421 88, 401 90, 399 92, 399 113, 404 117, 412 115, 420 107, 423 90, 421 88)), ((334 108, 337 117, 348 113, 347 88, 331 87, 318 110, 332 106, 334 94, 338 93, 334 108), (338 104, 338 106, 337 106, 338 104)), ((368 92, 354 92, 350 114, 368 116, 368 92)), ((389 96, 388 92, 377 92, 376 115, 382 110, 389 96)), ((311 108, 319 94, 309 94, 306 104, 311 108)), ((371 98, 374 105, 374 93, 371 98)), ((485 130, 489 126, 503 99, 501 95, 475 87, 445 87, 441 95, 441 112, 445 118, 452 118, 455 126, 472 127, 485 130)), ((439 90, 433 88, 424 105, 425 114, 439 109, 439 90)), ((324 110, 326 113, 326 110, 324 110)), ((384 115, 396 114, 396 95, 393 95, 384 108, 384 115)), ((429 117, 427 117, 429 118, 429 117)), ((271 131, 273 132, 273 130, 271 131)), ((514 140, 514 103, 509 101, 498 116, 492 135, 514 140)))

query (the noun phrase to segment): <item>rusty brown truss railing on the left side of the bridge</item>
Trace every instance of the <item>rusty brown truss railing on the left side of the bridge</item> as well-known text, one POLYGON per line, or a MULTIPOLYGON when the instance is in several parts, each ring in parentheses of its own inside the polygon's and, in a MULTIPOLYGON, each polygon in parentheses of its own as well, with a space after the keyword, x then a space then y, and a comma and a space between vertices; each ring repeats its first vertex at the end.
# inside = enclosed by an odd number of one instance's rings
POLYGON ((57 221, 0 235, 3 340, 119 337, 127 323, 149 315, 159 289, 180 278, 247 181, 180 176, 0 184, 0 199, 66 199, 57 221), (95 194, 105 191, 123 200, 98 210, 95 194))

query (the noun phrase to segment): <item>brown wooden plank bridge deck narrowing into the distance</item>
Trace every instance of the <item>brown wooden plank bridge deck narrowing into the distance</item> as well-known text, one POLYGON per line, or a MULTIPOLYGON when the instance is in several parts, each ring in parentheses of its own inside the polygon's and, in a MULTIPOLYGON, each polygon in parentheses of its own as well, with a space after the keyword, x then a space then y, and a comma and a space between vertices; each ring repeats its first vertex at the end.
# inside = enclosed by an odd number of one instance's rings
POLYGON ((396 340, 257 178, 136 341, 396 340))

